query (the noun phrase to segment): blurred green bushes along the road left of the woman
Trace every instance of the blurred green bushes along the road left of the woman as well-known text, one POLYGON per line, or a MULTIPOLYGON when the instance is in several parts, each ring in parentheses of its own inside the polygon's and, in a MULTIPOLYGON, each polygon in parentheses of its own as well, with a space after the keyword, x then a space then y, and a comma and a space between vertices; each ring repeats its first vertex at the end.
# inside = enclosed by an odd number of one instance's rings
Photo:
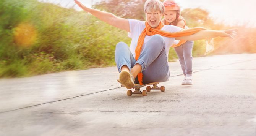
POLYGON ((0 14, 0 77, 113 66, 115 45, 130 44, 125 31, 85 12, 37 0, 3 0, 0 14), (28 46, 15 41, 20 24, 35 29, 28 46))

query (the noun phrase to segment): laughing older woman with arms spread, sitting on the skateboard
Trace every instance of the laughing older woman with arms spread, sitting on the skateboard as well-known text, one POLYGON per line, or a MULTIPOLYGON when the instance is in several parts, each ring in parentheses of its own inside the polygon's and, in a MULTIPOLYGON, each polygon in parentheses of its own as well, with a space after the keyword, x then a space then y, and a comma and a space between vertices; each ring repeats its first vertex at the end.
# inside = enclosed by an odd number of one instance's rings
POLYGON ((232 38, 237 35, 235 30, 213 31, 203 28, 183 30, 173 25, 164 25, 161 19, 165 8, 159 0, 145 2, 146 21, 120 18, 111 13, 88 8, 77 0, 75 2, 84 11, 100 20, 130 32, 132 38, 130 48, 126 43, 120 42, 115 50, 115 62, 120 72, 118 82, 128 89, 133 88, 135 83, 168 81, 169 48, 172 44, 178 44, 179 40, 200 40, 217 36, 232 38))

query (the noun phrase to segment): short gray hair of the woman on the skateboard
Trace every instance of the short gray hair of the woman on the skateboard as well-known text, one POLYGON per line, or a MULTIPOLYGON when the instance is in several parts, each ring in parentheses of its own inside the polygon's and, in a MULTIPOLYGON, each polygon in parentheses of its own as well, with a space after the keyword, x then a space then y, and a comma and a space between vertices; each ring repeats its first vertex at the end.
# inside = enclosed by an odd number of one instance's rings
POLYGON ((144 5, 144 12, 147 11, 160 11, 164 14, 164 4, 160 0, 147 0, 144 5))

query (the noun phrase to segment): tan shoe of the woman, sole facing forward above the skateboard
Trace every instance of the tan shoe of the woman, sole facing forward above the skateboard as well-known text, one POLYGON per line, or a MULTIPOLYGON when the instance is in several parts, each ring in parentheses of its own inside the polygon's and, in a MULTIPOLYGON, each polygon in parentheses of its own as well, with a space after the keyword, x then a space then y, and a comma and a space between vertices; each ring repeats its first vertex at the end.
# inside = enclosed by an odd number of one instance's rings
POLYGON ((121 84, 125 85, 126 88, 131 89, 135 86, 134 82, 131 79, 131 75, 127 71, 122 71, 119 75, 119 81, 121 84))

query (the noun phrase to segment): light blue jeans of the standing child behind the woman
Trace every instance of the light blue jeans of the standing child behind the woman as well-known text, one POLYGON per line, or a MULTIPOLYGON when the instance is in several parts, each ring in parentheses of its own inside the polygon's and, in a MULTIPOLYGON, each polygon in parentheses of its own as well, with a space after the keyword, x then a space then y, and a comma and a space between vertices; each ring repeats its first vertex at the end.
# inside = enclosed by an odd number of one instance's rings
POLYGON ((186 43, 175 47, 180 61, 180 65, 184 75, 192 74, 192 49, 194 41, 186 41, 186 43))

